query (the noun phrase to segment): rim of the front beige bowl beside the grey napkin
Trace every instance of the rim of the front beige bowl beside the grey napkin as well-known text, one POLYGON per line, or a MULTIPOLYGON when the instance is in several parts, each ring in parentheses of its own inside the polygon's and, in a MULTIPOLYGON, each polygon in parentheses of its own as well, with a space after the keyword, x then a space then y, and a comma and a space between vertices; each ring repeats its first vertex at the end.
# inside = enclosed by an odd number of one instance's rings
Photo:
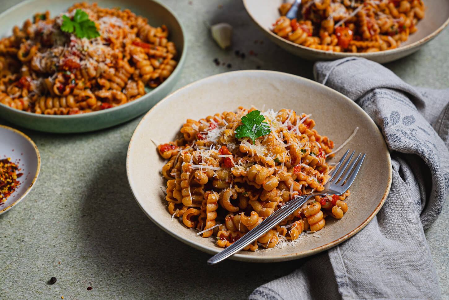
MULTIPOLYGON (((354 101, 352 101, 350 98, 348 98, 347 96, 343 95, 342 93, 339 93, 338 91, 329 88, 323 84, 320 84, 316 81, 313 81, 311 79, 307 79, 301 76, 297 76, 297 75, 293 75, 293 74, 288 74, 288 73, 284 73, 284 72, 279 72, 279 71, 268 71, 268 70, 240 70, 240 71, 231 71, 231 72, 225 72, 225 73, 220 73, 220 74, 216 74, 216 75, 211 75, 208 77, 205 77, 203 79, 199 79, 197 81, 194 81, 190 84, 185 85, 182 88, 177 89, 176 91, 174 91, 173 93, 168 94, 166 97, 164 97, 161 101, 159 101, 155 106, 153 106, 145 115, 144 117, 141 119, 141 121, 139 122, 139 124, 137 124, 136 129, 134 130, 134 132, 132 133, 132 137, 129 141, 129 145, 128 145, 128 151, 127 151, 127 155, 126 155, 126 176, 127 176, 127 180, 128 180, 128 185, 129 188, 132 192, 132 195, 134 197, 134 199, 136 200, 137 204, 139 205, 139 207, 141 208, 141 210, 145 213, 146 216, 148 216, 148 218, 150 218, 151 221, 153 221, 154 224, 156 224, 159 228, 163 229, 163 231, 167 232, 168 234, 170 234, 172 237, 178 239, 179 241, 194 247, 195 249, 198 249, 200 251, 209 253, 209 254, 216 254, 219 253, 221 250, 223 250, 223 248, 207 248, 205 246, 203 246, 202 244, 191 240, 189 238, 185 238, 183 236, 181 236, 180 234, 177 234, 176 232, 172 232, 169 229, 165 228, 163 226, 163 224, 159 224, 157 221, 155 221, 152 216, 150 216, 150 214, 148 212, 146 212, 144 210, 144 208, 142 207, 140 201, 137 199, 136 197, 136 193, 135 190, 133 189, 133 185, 132 182, 130 180, 130 155, 131 155, 131 149, 133 146, 133 142, 136 138, 136 134, 137 131, 141 128, 141 126, 143 126, 143 122, 145 121, 145 119, 147 118, 148 115, 150 115, 150 113, 153 112, 153 110, 156 110, 157 106, 162 103, 163 101, 169 101, 169 99, 177 94, 177 93, 181 93, 182 91, 184 91, 187 88, 190 88, 196 84, 201 84, 202 81, 207 81, 213 77, 225 77, 225 76, 229 76, 229 74, 242 74, 244 75, 244 73, 247 73, 247 76, 251 77, 251 74, 255 74, 255 72, 257 73, 270 73, 270 74, 277 74, 277 75, 285 75, 285 76, 291 76, 291 77, 295 77, 299 80, 304 80, 305 82, 315 85, 317 88, 322 88, 325 89, 331 93, 334 93, 335 95, 338 95, 339 97, 343 97, 346 98, 346 100, 348 101, 349 105, 352 105, 355 107, 355 109, 360 110, 372 123, 372 125, 374 125, 377 130, 379 130, 379 128, 377 127, 377 125, 374 123, 373 119, 370 118, 370 116, 365 112, 365 110, 362 110, 360 106, 358 106, 354 101)), ((380 130, 379 130, 380 132, 380 130)), ((382 134, 382 133, 381 133, 382 134)), ((385 140, 384 140, 385 142, 385 140)), ((386 142, 385 142, 386 145, 386 142)), ((387 184, 387 188, 383 194, 382 199, 379 202, 379 205, 374 209, 374 211, 370 214, 370 216, 368 216, 366 218, 365 221, 363 221, 360 225, 358 225, 355 229, 353 229, 352 231, 350 231, 348 234, 343 235, 340 238, 337 238, 336 240, 326 243, 325 245, 319 246, 319 247, 315 247, 313 249, 309 249, 306 251, 299 251, 299 252, 295 252, 295 253, 291 253, 291 254, 284 254, 284 255, 274 255, 274 256, 250 256, 250 255, 246 255, 246 254, 242 254, 242 253, 237 253, 234 254, 233 256, 229 257, 229 259, 231 260, 240 260, 240 261, 247 261, 247 262, 276 262, 276 261, 286 261, 286 260, 295 260, 295 259, 299 259, 302 257, 306 257, 306 256, 310 256, 313 254, 317 254, 321 251, 324 251, 326 249, 329 249, 331 247, 334 247, 336 245, 338 245, 339 243, 342 243, 343 241, 347 240, 348 238, 351 238, 353 235, 357 234, 361 229, 363 229, 366 225, 368 225, 368 223, 374 218, 374 216, 376 216, 376 214, 379 212, 379 210, 382 208, 383 204, 385 203, 385 200, 387 199, 388 193, 390 191, 391 185, 392 185, 392 163, 391 163, 391 157, 390 157, 390 152, 388 151, 388 147, 386 145, 385 147, 385 154, 387 155, 387 163, 388 163, 388 184, 387 184)))

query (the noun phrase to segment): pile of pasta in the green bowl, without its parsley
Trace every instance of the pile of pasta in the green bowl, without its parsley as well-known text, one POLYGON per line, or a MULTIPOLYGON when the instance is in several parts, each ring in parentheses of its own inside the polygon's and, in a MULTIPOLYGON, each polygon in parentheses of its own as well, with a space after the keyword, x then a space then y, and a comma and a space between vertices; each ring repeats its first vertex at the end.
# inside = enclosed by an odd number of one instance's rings
POLYGON ((50 18, 36 13, 0 40, 0 103, 37 114, 67 115, 107 109, 155 88, 176 67, 165 25, 152 27, 128 9, 74 4, 50 18), (81 9, 100 36, 61 30, 63 15, 81 9))

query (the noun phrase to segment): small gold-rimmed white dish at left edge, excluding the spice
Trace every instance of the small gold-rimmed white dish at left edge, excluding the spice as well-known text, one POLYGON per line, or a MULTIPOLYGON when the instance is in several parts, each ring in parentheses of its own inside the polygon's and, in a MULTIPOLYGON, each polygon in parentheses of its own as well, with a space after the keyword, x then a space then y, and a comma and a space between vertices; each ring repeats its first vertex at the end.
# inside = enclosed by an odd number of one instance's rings
POLYGON ((0 203, 0 215, 9 211, 19 203, 31 190, 40 170, 40 155, 36 144, 24 133, 4 125, 0 125, 0 159, 10 158, 21 168, 18 178, 20 185, 5 202, 0 203))

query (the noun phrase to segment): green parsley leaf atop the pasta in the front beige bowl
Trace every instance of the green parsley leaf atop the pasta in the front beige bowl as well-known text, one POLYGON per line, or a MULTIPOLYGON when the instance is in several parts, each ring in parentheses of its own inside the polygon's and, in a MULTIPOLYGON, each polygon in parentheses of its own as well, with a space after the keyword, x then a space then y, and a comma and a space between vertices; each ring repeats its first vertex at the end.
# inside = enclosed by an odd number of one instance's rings
POLYGON ((253 110, 242 117, 243 125, 235 129, 235 137, 249 137, 254 142, 258 137, 262 137, 271 132, 270 125, 264 121, 264 116, 259 110, 253 110))

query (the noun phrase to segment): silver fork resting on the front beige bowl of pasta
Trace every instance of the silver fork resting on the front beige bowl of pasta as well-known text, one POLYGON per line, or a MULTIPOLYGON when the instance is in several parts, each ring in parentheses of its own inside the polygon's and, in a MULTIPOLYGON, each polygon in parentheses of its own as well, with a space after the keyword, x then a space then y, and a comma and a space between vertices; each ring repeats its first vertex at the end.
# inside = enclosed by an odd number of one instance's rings
POLYGON ((341 195, 344 192, 346 192, 352 185, 352 182, 354 182, 354 180, 356 179, 357 173, 359 172, 361 164, 365 159, 366 155, 366 154, 363 155, 359 154, 357 158, 354 159, 352 163, 349 165, 352 157, 354 156, 355 151, 352 152, 352 154, 345 162, 344 160, 348 156, 348 153, 349 150, 346 151, 346 153, 337 163, 335 168, 332 170, 329 181, 326 183, 326 185, 324 185, 324 190, 322 190, 319 193, 306 194, 290 200, 289 202, 284 204, 281 208, 279 208, 276 212, 273 212, 273 214, 271 214, 264 221, 260 222, 259 225, 250 230, 247 234, 243 235, 242 238, 239 238, 231 246, 225 248, 225 250, 221 251, 220 253, 212 256, 209 260, 207 260, 207 263, 209 265, 214 265, 228 258, 229 256, 235 254, 236 252, 242 250, 244 247, 254 242, 257 238, 260 238, 262 235, 266 234, 270 229, 272 229, 274 226, 283 221, 287 216, 290 216, 293 212, 298 210, 299 207, 307 203, 307 201, 310 198, 314 196, 326 196, 326 194, 341 195))

